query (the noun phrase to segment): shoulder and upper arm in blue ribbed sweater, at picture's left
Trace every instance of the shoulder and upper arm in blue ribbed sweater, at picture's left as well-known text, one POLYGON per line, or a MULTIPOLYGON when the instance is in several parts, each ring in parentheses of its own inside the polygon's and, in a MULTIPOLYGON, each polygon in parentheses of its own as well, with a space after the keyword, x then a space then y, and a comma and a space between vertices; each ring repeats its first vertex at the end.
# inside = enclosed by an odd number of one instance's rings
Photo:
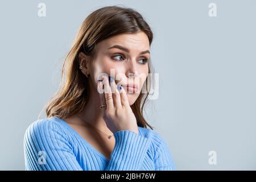
POLYGON ((26 129, 23 140, 26 169, 80 169, 74 155, 73 143, 67 130, 57 119, 38 119, 26 129), (71 166, 75 164, 76 166, 71 166), (41 165, 45 164, 45 165, 41 165), (67 164, 67 165, 66 165, 67 164))

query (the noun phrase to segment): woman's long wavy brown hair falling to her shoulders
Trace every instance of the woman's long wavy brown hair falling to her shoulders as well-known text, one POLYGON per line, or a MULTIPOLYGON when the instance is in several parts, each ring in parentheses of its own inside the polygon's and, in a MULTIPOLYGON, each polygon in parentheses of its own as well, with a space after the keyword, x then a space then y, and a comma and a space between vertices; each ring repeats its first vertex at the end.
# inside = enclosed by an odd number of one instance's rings
MULTIPOLYGON (((68 118, 82 111, 89 100, 88 78, 79 69, 78 55, 82 51, 86 55, 96 57, 96 44, 104 39, 123 33, 143 31, 151 45, 153 34, 142 15, 131 8, 106 6, 93 11, 81 24, 73 45, 65 56, 61 71, 61 81, 57 92, 46 105, 47 118, 68 118), (65 80, 64 80, 65 76, 65 80)), ((148 61, 148 73, 152 73, 151 61, 148 61)), ((143 86, 151 89, 152 77, 147 77, 143 86)), ((148 89, 147 89, 148 90, 148 89)), ((143 117, 144 104, 148 92, 140 93, 131 109, 140 127, 150 126, 143 117)))

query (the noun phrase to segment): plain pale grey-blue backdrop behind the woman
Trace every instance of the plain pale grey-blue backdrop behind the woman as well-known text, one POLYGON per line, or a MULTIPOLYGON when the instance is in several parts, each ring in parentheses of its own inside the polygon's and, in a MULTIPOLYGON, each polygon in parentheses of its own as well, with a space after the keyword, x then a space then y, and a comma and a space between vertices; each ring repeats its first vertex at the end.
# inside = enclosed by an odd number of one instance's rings
POLYGON ((154 32, 160 94, 146 118, 166 140, 176 169, 255 170, 253 0, 1 1, 0 169, 24 170, 24 131, 55 92, 82 20, 109 5, 138 10, 154 32), (211 2, 217 17, 208 15, 211 2), (208 163, 212 150, 217 165, 208 163))

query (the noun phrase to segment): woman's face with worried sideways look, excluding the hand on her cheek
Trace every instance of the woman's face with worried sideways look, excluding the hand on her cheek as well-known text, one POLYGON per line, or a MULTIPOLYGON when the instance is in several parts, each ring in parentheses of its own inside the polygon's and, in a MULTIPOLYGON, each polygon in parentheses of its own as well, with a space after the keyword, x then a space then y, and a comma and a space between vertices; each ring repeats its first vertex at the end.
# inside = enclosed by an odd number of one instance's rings
POLYGON ((101 80, 102 73, 106 73, 112 76, 118 85, 123 85, 129 104, 133 105, 148 75, 149 51, 150 44, 144 32, 120 34, 98 43, 97 56, 88 70, 96 91, 97 80, 101 80), (133 89, 134 86, 137 89, 133 89))

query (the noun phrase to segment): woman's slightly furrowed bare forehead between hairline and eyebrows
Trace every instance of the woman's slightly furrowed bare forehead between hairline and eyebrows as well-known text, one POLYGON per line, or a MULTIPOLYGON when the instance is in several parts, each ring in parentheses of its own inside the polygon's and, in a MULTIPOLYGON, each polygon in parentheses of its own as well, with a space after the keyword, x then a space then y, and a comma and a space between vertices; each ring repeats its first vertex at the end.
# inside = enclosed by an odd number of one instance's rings
POLYGON ((108 48, 114 45, 125 47, 130 50, 130 53, 150 50, 149 40, 144 32, 115 35, 109 39, 102 40, 97 47, 98 50, 106 52, 112 50, 108 48))

